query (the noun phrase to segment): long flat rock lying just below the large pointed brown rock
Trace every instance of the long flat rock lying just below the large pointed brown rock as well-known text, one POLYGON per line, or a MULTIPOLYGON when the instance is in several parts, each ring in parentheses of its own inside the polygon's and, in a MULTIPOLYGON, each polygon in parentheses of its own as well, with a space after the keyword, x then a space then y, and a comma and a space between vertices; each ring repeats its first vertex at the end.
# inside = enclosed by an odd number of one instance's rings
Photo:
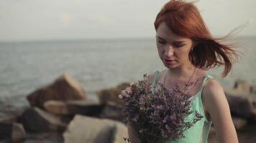
POLYGON ((80 100, 80 101, 54 101, 50 100, 44 104, 47 112, 52 114, 75 115, 83 114, 87 116, 99 116, 104 105, 99 104, 95 100, 80 100))

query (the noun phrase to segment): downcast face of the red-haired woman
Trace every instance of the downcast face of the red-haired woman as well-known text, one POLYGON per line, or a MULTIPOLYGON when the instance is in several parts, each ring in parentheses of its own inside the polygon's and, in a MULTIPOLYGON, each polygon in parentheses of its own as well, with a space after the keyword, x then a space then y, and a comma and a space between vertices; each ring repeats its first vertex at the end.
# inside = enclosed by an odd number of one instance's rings
POLYGON ((157 28, 156 42, 160 59, 166 67, 173 69, 191 64, 188 54, 194 46, 193 41, 174 34, 165 22, 157 28))

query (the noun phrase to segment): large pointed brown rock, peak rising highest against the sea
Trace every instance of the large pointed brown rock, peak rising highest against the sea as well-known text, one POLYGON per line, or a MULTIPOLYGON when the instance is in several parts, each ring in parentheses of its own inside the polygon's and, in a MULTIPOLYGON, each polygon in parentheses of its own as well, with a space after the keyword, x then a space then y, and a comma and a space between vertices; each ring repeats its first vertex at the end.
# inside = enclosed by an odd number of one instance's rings
POLYGON ((64 74, 47 87, 42 87, 27 96, 32 107, 43 109, 44 102, 48 100, 78 100, 87 99, 86 92, 75 79, 64 74))

